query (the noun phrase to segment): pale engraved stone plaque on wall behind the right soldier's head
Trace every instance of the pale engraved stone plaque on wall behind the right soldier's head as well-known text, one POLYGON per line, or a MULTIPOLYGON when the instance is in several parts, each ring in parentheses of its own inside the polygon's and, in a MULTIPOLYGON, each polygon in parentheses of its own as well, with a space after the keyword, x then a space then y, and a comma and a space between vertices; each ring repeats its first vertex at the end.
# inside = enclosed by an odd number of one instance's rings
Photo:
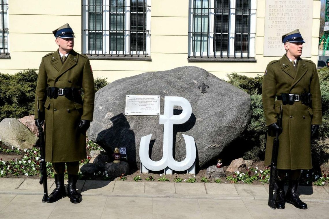
POLYGON ((299 29, 304 41, 302 57, 311 57, 313 1, 266 1, 264 56, 286 53, 282 35, 299 29))

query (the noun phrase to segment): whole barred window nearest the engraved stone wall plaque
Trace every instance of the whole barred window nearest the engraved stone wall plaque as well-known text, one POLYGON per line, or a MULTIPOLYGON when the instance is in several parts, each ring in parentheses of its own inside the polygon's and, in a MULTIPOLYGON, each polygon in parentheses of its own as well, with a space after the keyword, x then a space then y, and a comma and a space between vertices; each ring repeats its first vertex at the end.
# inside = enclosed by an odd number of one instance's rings
POLYGON ((256 0, 190 0, 189 60, 254 58, 256 0))

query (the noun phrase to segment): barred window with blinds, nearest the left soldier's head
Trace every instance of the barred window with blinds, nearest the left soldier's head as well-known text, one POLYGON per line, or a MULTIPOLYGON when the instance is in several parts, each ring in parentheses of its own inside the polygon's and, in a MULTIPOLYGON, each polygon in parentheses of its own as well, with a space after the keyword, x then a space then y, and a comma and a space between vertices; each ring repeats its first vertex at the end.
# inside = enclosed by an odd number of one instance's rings
POLYGON ((100 57, 150 55, 150 0, 84 0, 83 53, 100 57))

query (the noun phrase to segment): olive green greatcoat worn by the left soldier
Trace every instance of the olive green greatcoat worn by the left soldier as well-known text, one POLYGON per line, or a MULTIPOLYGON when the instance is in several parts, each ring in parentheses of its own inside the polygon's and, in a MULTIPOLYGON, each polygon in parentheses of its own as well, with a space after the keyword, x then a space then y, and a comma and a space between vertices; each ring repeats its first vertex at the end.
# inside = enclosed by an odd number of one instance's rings
POLYGON ((45 117, 46 162, 74 162, 86 159, 86 132, 80 132, 80 120, 92 121, 94 80, 89 59, 71 50, 64 64, 58 50, 45 55, 39 67, 35 102, 35 119, 39 108, 45 117), (47 97, 47 87, 83 88, 81 96, 69 100, 65 96, 47 97))

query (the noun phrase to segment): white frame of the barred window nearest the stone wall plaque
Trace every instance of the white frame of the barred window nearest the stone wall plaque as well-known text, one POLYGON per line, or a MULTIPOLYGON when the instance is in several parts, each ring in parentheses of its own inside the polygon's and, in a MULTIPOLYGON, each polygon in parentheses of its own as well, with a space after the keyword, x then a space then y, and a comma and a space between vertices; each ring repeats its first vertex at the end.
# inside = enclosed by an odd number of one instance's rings
MULTIPOLYGON (((229 40, 228 40, 228 52, 214 52, 214 26, 215 26, 215 0, 209 1, 209 15, 208 15, 208 45, 207 51, 193 52, 193 19, 194 19, 194 1, 189 0, 189 45, 188 45, 188 60, 189 61, 198 61, 198 59, 203 59, 200 61, 221 61, 221 59, 250 59, 251 61, 256 61, 255 57, 255 39, 256 39, 256 0, 250 0, 250 23, 249 23, 249 49, 246 53, 235 52, 235 26, 236 26, 236 0, 229 0, 229 40), (232 7, 234 6, 234 7, 232 7), (206 60, 205 60, 206 59, 206 60)), ((201 10, 201 9, 199 9, 201 10)), ((202 10, 207 11, 208 8, 202 10)), ((207 33, 206 33, 207 34, 207 33)), ((232 60, 231 60, 232 61, 232 60)))

